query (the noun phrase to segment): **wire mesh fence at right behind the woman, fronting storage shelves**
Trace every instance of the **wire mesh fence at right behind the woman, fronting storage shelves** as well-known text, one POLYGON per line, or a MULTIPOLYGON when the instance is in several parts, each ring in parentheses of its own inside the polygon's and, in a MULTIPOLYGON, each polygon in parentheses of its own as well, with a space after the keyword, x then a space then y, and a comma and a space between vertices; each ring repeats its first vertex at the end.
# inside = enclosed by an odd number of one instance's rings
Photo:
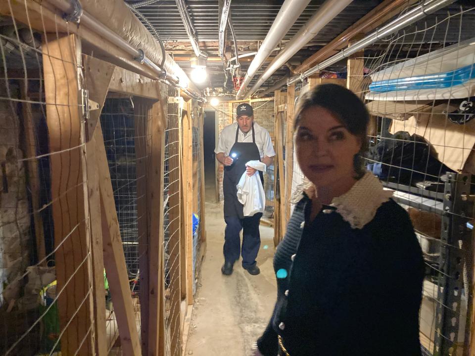
POLYGON ((367 167, 395 190, 423 249, 420 335, 429 355, 463 355, 469 345, 475 131, 464 107, 475 86, 455 72, 474 70, 474 19, 468 5, 428 16, 366 51, 358 59, 368 73, 349 78, 375 118, 367 167))

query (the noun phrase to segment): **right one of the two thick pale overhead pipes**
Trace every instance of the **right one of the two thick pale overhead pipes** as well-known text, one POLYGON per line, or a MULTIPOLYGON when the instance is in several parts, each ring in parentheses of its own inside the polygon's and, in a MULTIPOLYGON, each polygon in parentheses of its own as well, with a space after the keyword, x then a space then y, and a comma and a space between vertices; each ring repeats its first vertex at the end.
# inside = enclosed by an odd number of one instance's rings
MULTIPOLYGON (((292 37, 285 45, 284 49, 274 58, 274 60, 261 74, 257 82, 247 93, 248 96, 254 94, 267 79, 285 62, 287 62, 295 53, 304 45, 310 42, 318 32, 323 29, 332 19, 337 16, 343 9, 350 4, 352 0, 327 0, 318 11, 303 25, 303 27, 292 37)), ((240 98, 244 95, 241 93, 240 98)))

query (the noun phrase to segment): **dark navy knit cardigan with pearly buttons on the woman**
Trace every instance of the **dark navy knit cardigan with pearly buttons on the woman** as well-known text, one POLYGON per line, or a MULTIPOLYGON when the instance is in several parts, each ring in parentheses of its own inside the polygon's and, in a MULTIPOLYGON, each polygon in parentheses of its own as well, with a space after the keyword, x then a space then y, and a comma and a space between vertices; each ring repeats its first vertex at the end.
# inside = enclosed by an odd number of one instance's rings
POLYGON ((280 334, 290 356, 420 356, 425 267, 408 214, 390 199, 353 229, 333 209, 309 222, 311 200, 295 206, 274 257, 287 276, 259 351, 283 355, 280 334))

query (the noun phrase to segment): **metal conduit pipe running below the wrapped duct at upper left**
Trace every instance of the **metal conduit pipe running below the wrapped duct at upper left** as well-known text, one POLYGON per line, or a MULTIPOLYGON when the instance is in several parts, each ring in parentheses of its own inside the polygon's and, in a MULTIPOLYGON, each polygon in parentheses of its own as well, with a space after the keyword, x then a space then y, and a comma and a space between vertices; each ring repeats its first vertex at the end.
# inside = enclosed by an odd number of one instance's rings
MULTIPOLYGON (((73 10, 73 6, 68 0, 47 0, 47 1, 65 13, 69 13, 70 11, 73 10)), ((107 28, 102 23, 97 21, 88 12, 83 11, 80 17, 80 20, 81 20, 81 25, 84 25, 85 27, 89 28, 91 31, 107 39, 112 44, 116 45, 117 47, 124 50, 126 53, 130 54, 134 59, 140 58, 143 64, 145 64, 147 67, 152 69, 153 72, 156 73, 157 77, 155 79, 166 80, 169 82, 169 84, 183 89, 193 98, 203 101, 203 102, 206 101, 199 94, 193 93, 190 90, 188 90, 186 88, 188 86, 188 83, 180 83, 180 78, 178 78, 176 75, 173 74, 174 70, 172 67, 165 66, 165 68, 160 68, 158 65, 153 63, 149 58, 147 58, 144 55, 142 50, 136 49, 133 46, 131 46, 126 40, 124 40, 122 37, 112 32, 109 28, 107 28)), ((178 64, 176 64, 176 66, 178 67, 178 64)), ((188 81, 188 78, 186 78, 186 80, 188 81)))

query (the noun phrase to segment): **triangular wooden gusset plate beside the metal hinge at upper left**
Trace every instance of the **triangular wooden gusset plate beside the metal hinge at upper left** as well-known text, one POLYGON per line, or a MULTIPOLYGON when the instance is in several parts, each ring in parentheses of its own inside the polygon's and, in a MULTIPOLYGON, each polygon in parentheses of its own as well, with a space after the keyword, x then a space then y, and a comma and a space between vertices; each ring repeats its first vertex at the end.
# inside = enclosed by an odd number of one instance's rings
POLYGON ((87 140, 93 138, 94 130, 104 107, 105 97, 109 88, 115 66, 100 59, 83 55, 84 77, 89 99, 99 104, 99 108, 89 111, 86 123, 87 140))

